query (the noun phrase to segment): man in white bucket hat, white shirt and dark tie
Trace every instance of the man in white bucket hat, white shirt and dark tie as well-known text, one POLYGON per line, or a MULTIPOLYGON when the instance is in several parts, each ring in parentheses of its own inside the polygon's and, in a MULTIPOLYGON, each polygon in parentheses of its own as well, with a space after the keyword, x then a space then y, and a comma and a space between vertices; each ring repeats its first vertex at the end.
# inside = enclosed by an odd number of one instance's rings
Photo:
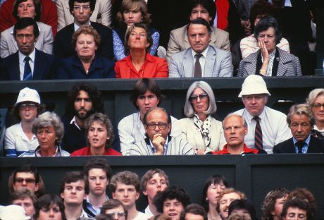
POLYGON ((285 114, 266 106, 270 92, 260 75, 249 75, 243 82, 239 97, 245 106, 236 111, 247 121, 248 133, 244 142, 249 148, 273 153, 273 146, 292 138, 285 114))

